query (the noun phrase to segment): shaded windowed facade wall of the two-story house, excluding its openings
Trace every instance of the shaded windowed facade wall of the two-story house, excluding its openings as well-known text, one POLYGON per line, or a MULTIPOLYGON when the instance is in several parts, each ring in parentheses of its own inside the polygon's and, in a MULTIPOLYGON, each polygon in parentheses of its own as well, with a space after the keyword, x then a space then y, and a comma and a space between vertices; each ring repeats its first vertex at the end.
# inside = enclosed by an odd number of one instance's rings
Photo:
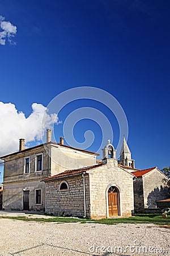
POLYGON ((29 191, 29 209, 45 209, 45 183, 41 182, 49 176, 50 159, 44 147, 19 152, 6 159, 3 178, 3 209, 23 210, 23 191, 29 191), (42 171, 35 172, 36 155, 42 154, 42 171), (29 157, 29 174, 24 174, 24 159, 29 157), (35 189, 42 189, 42 204, 35 204, 35 189))

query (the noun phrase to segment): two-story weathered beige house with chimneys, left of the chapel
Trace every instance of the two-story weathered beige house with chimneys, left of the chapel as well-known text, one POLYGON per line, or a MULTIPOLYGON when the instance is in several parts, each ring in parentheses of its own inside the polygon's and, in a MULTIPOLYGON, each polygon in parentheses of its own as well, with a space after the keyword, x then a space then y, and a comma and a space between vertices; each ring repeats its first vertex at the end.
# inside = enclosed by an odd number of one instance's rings
POLYGON ((52 142, 52 131, 46 130, 46 143, 24 148, 20 139, 19 151, 2 156, 4 160, 3 209, 45 210, 45 177, 65 170, 96 164, 95 152, 52 142))

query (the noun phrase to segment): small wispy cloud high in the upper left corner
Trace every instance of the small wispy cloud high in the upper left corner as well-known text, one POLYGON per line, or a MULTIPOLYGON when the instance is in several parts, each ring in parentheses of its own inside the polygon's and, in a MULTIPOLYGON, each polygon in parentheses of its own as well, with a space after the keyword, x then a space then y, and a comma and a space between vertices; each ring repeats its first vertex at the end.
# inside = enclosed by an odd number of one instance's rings
POLYGON ((10 44, 15 45, 16 43, 12 41, 12 38, 16 35, 16 26, 12 25, 11 22, 5 21, 5 17, 0 15, 0 27, 2 29, 0 31, 0 44, 5 46, 6 40, 8 40, 10 44))

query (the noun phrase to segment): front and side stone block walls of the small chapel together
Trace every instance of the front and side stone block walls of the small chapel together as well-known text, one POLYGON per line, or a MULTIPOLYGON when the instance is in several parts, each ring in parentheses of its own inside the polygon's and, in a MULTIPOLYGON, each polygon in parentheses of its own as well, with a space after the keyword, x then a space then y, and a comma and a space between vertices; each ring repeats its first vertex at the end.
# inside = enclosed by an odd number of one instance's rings
MULTIPOLYGON (((107 159, 107 164, 86 171, 86 217, 101 219, 109 215, 108 189, 118 191, 118 215, 131 216, 134 210, 133 177, 128 171, 117 166, 117 160, 107 159)), ((67 177, 45 180, 46 212, 58 216, 84 216, 84 191, 82 173, 67 177), (60 190, 65 181, 68 189, 60 190)))

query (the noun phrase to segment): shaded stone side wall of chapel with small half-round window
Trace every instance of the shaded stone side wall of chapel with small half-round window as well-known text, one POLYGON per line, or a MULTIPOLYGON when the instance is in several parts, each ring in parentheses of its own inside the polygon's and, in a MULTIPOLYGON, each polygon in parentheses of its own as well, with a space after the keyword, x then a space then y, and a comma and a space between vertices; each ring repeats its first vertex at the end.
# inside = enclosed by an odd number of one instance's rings
MULTIPOLYGON (((86 217, 90 217, 89 178, 85 175, 86 217)), ((82 174, 46 181, 46 208, 56 216, 84 216, 84 191, 82 174), (69 190, 59 191, 59 184, 66 181, 69 190)))

